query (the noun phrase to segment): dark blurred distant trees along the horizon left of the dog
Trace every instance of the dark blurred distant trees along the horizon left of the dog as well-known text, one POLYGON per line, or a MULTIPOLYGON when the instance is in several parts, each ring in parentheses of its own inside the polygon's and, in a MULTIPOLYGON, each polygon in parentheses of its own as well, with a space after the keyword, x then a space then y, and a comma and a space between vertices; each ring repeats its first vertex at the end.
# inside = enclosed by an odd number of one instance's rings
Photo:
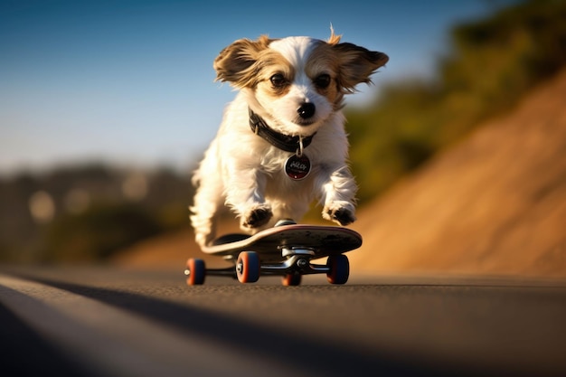
POLYGON ((0 262, 92 262, 156 233, 190 229, 189 174, 105 165, 0 179, 0 262))

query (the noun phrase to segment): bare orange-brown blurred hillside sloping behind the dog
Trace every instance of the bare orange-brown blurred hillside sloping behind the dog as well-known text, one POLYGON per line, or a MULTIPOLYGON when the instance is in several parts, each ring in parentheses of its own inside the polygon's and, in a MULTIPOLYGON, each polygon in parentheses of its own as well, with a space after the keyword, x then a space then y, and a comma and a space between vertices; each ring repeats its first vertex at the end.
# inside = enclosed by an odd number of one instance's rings
MULTIPOLYGON (((364 237, 349 254, 353 271, 565 278, 565 105, 562 71, 365 205, 353 225, 364 237)), ((113 261, 182 269, 194 255, 201 254, 185 231, 113 261)))

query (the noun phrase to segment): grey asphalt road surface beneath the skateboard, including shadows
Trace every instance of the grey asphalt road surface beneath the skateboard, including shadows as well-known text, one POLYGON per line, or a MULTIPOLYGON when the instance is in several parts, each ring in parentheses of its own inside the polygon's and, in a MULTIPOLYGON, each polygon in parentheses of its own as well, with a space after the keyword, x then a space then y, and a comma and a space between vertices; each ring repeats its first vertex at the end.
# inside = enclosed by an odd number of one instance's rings
POLYGON ((566 282, 0 266, 0 375, 566 375, 566 282))

